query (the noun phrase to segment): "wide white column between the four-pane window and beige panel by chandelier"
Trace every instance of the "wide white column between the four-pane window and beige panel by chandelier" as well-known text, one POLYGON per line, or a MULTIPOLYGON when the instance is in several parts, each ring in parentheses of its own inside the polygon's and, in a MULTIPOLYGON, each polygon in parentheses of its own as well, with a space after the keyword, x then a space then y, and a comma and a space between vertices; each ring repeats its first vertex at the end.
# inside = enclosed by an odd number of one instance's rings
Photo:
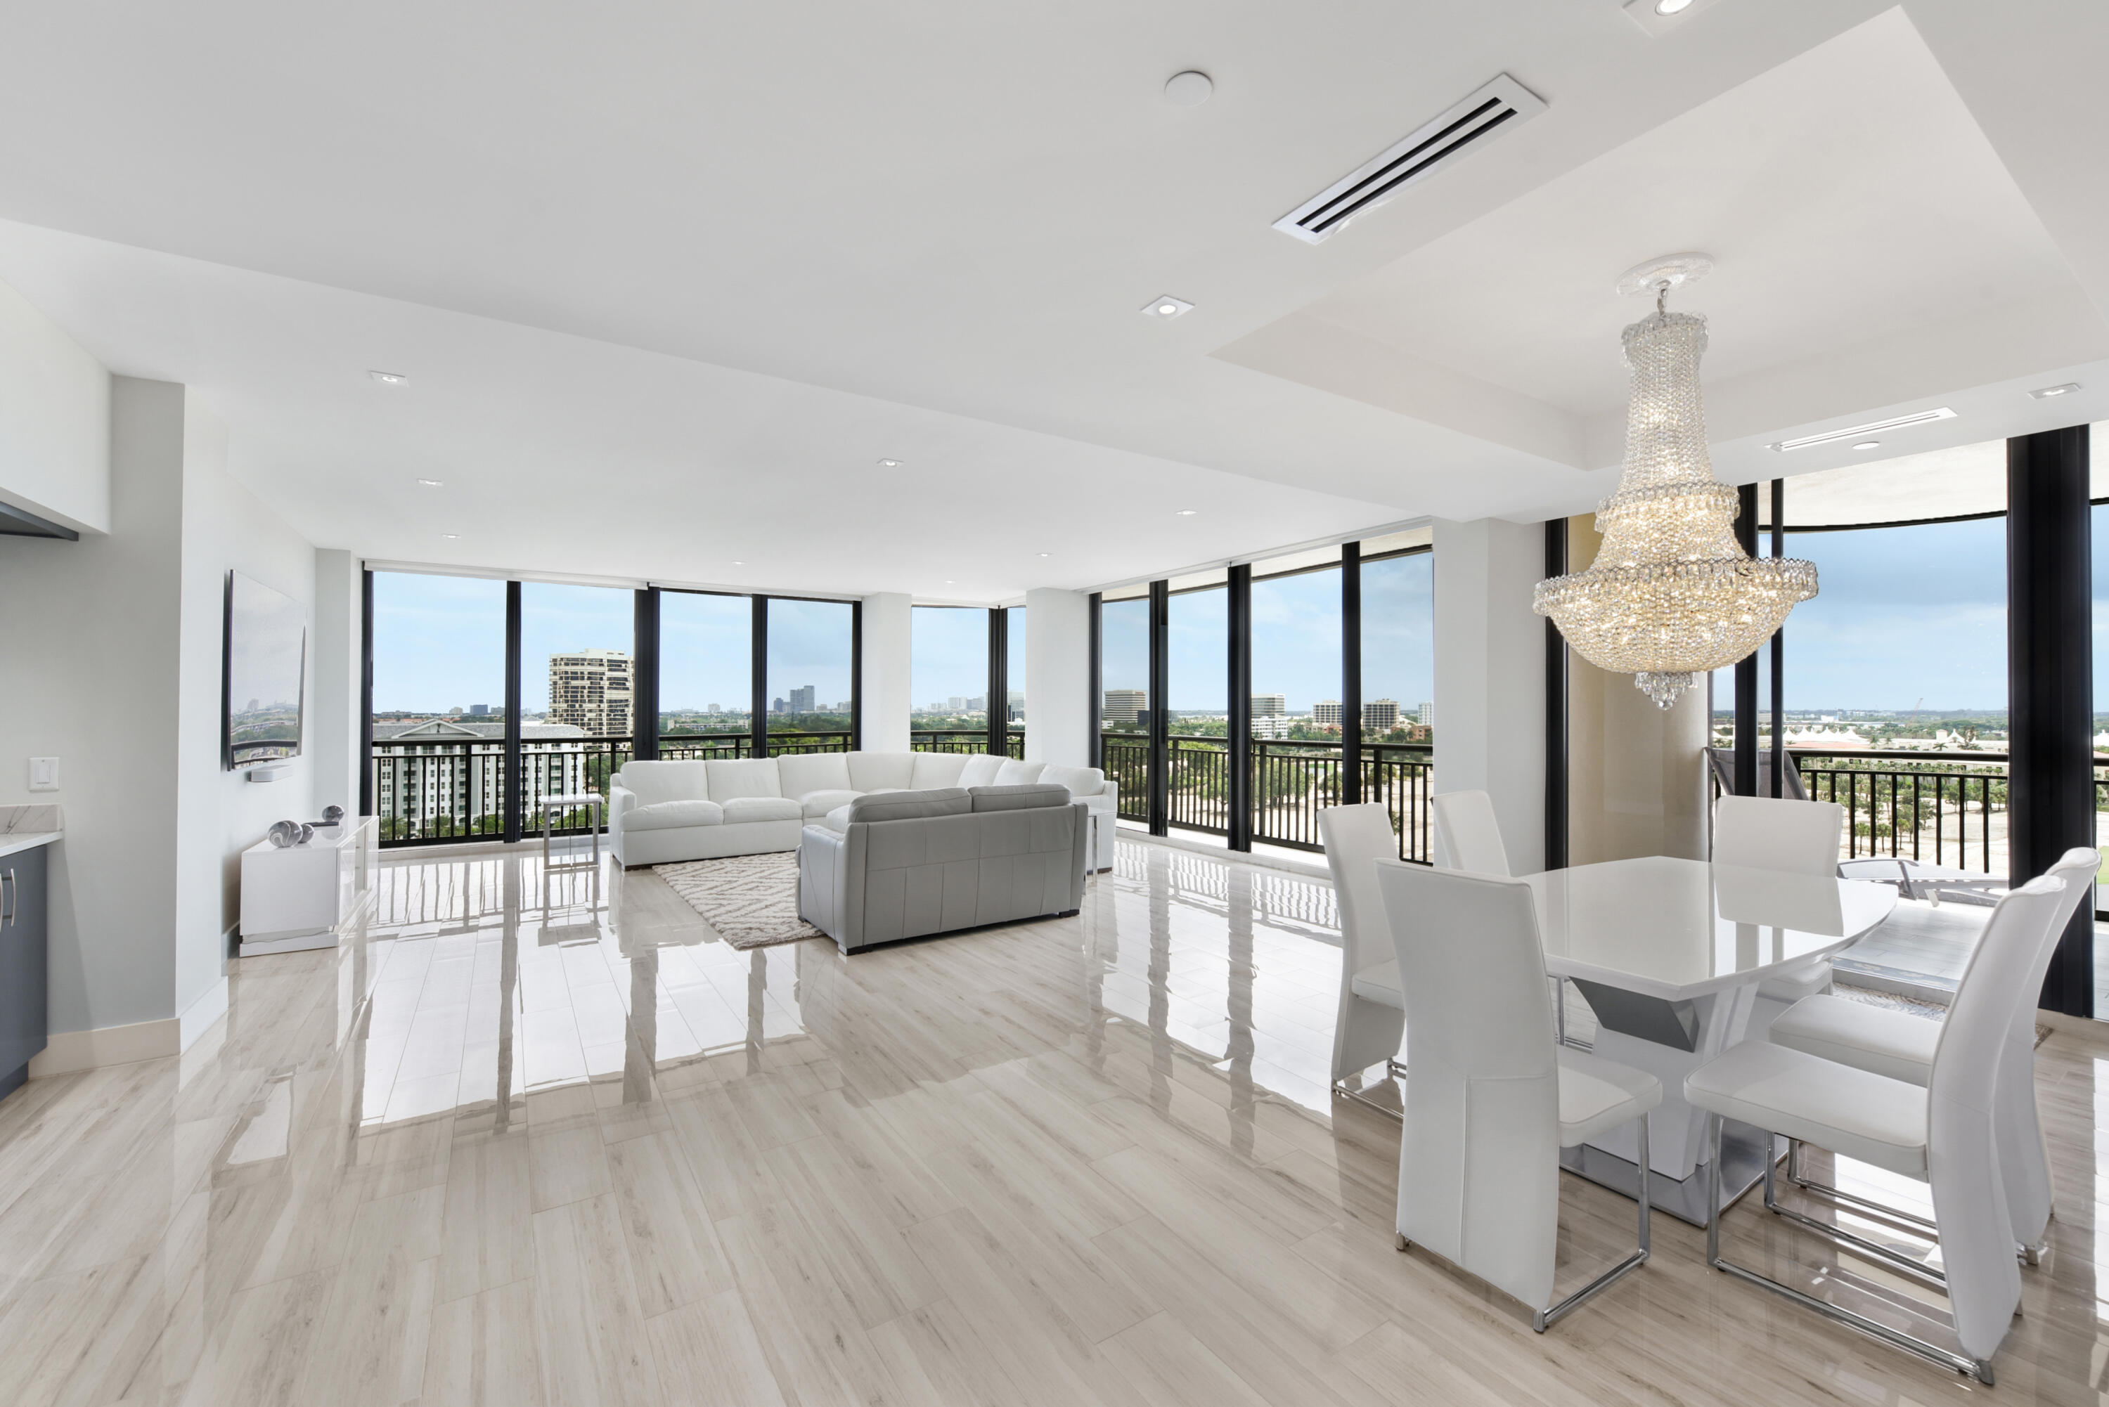
MULTIPOLYGON (((1485 791, 1516 873, 1546 854, 1544 527, 1436 521, 1436 791, 1485 791)), ((1440 859, 1440 856, 1438 856, 1440 859)))

